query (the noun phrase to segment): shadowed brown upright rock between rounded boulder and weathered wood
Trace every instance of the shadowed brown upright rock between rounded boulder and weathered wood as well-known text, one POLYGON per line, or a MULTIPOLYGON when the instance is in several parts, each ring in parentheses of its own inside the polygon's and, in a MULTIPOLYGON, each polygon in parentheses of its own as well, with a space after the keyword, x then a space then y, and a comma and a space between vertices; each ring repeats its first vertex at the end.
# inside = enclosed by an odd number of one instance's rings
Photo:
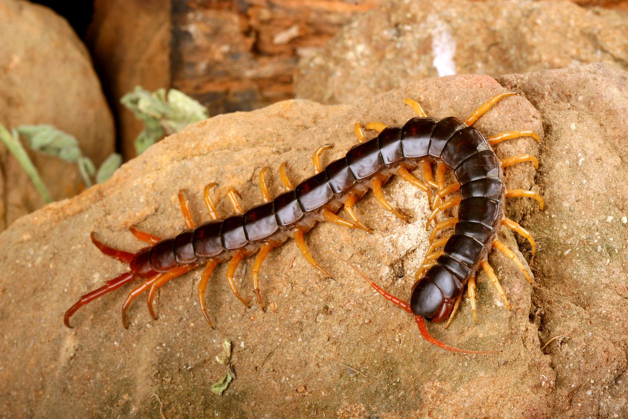
POLYGON ((169 0, 96 0, 87 33, 95 66, 104 80, 126 158, 135 156, 133 140, 144 128, 120 98, 137 85, 157 90, 170 87, 169 0))

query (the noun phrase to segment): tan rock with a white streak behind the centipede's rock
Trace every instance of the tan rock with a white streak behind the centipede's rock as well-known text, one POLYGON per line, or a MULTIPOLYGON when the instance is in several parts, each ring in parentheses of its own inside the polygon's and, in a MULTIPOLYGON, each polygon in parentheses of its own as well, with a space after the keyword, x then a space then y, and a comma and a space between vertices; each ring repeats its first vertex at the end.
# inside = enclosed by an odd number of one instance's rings
POLYGON ((625 14, 566 1, 390 1, 301 60, 296 97, 351 103, 426 77, 609 62, 628 68, 625 14))

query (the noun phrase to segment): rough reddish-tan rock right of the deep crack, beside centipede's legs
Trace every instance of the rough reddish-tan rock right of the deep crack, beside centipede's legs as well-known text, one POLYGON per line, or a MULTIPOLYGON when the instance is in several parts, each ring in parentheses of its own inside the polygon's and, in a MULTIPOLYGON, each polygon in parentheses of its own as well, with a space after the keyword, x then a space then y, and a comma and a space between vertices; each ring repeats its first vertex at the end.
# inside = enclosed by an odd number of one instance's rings
POLYGON ((595 64, 498 80, 530 99, 547 134, 538 183, 548 208, 526 226, 541 242, 531 312, 556 373, 554 409, 625 417, 628 73, 595 64))

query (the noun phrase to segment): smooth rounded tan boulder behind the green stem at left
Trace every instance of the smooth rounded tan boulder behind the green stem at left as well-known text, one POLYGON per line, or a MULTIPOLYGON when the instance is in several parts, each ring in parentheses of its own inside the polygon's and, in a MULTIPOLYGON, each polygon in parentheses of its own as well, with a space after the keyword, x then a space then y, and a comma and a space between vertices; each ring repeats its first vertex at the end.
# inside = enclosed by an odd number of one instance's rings
MULTIPOLYGON (((52 124, 73 134, 99 165, 114 148, 113 121, 89 54, 67 22, 42 6, 0 0, 0 51, 0 123, 52 124)), ((31 158, 53 199, 82 188, 75 165, 34 153, 31 158)), ((2 145, 0 168, 3 229, 44 202, 2 145)))

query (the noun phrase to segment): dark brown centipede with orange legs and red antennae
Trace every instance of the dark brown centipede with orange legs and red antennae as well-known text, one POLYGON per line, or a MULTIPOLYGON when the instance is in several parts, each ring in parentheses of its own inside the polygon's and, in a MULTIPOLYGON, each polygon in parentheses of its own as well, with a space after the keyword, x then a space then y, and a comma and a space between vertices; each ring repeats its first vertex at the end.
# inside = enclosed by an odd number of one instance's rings
POLYGON ((507 198, 528 197, 538 200, 539 207, 543 209, 543 198, 532 190, 506 188, 504 168, 516 163, 530 162, 538 169, 539 161, 533 155, 500 159, 495 155, 493 146, 502 141, 522 137, 531 137, 539 142, 541 139, 533 131, 507 131, 485 137, 474 128, 474 123, 482 115, 497 102, 512 95, 516 95, 516 92, 495 95, 481 104, 465 120, 454 116, 443 119, 428 117, 418 102, 406 98, 404 103, 413 108, 416 117, 398 126, 369 122, 365 124, 365 128, 377 131, 377 135, 371 139, 365 137, 362 125, 356 122, 354 132, 358 144, 350 148, 344 157, 332 161, 325 168, 321 162, 321 155, 332 148, 333 144, 318 148, 312 156, 314 175, 298 185, 293 186, 291 183, 284 162, 279 166, 284 192, 274 199, 266 182, 269 168, 264 167, 259 172, 263 203, 249 210, 242 208, 239 193, 230 188, 227 197, 234 214, 221 218, 212 198, 212 188, 216 183, 208 184, 204 188, 203 201, 210 220, 200 226, 193 221, 183 190, 180 190, 178 200, 185 219, 185 230, 175 237, 162 239, 131 227, 130 231, 137 239, 148 243, 148 246, 135 253, 106 246, 92 232, 90 237, 94 245, 106 256, 129 264, 129 271, 80 297, 65 312, 64 324, 72 327, 70 318, 80 307, 136 278, 141 280, 141 285, 131 290, 122 304, 122 325, 128 328, 127 308, 144 293, 148 311, 151 317, 156 319, 153 308, 156 291, 169 281, 204 266, 197 287, 197 298, 203 317, 214 329, 205 303, 205 291, 210 276, 219 264, 228 261, 226 279, 230 290, 249 308, 249 302, 239 293, 234 276, 239 264, 253 255, 256 255, 256 258, 251 269, 252 286, 257 303, 264 310, 259 272, 269 252, 288 239, 294 239, 300 253, 313 268, 318 269, 323 276, 332 278, 332 275, 313 258, 304 239, 305 234, 318 222, 328 221, 350 229, 372 232, 360 222, 354 210, 354 205, 369 190, 372 190, 377 202, 384 209, 407 221, 405 215, 387 202, 382 190, 383 185, 391 177, 398 175, 427 194, 431 214, 426 222, 426 231, 434 224, 429 236, 430 247, 423 263, 416 271, 409 302, 394 297, 369 280, 355 264, 346 262, 383 297, 413 315, 421 334, 429 342, 448 351, 470 354, 494 353, 495 351, 472 351, 448 346, 431 337, 426 329, 425 319, 431 322, 447 320, 447 325, 450 324, 457 313, 466 287, 474 322, 477 324, 475 278, 480 270, 487 274, 504 305, 510 310, 504 289, 488 261, 492 249, 506 254, 521 270, 526 280, 532 282, 524 264, 506 244, 499 241, 497 233, 502 226, 517 232, 528 240, 531 254, 534 255, 536 242, 532 235, 504 215, 504 206, 507 198), (411 173, 415 170, 422 171, 423 182, 411 173), (453 172, 455 181, 445 185, 447 170, 453 172), (447 215, 456 206, 457 215, 447 215), (348 218, 338 215, 341 209, 344 209, 348 218), (438 215, 445 219, 439 221, 438 215), (446 231, 450 234, 445 235, 446 231), (437 239, 440 234, 443 237, 437 239))

